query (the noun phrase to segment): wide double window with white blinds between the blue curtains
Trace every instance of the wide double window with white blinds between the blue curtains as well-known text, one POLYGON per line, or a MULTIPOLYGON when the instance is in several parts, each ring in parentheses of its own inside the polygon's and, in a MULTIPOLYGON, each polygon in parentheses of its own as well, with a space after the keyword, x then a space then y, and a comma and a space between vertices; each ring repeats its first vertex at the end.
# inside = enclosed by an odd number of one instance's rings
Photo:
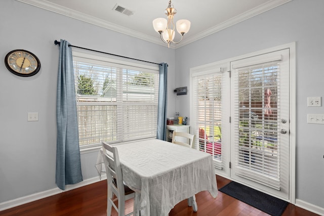
POLYGON ((80 147, 156 137, 158 67, 73 53, 80 147))

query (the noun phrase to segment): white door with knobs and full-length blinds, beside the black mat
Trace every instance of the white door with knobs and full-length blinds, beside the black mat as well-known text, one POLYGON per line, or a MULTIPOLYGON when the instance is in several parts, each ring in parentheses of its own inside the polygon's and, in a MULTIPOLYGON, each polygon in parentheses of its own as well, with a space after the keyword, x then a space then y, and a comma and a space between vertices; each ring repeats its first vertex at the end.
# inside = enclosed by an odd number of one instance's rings
POLYGON ((289 65, 289 49, 230 63, 230 178, 286 200, 290 189, 289 65))

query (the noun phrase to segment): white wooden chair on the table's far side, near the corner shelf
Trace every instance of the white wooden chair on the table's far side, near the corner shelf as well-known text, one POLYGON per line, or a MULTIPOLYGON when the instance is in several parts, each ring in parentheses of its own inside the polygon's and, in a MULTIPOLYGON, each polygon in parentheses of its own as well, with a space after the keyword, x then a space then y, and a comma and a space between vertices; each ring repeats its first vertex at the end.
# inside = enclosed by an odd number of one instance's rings
MULTIPOLYGON (((188 133, 184 133, 184 132, 175 132, 174 131, 172 134, 172 143, 182 145, 185 147, 189 147, 189 148, 194 148, 195 139, 196 139, 196 135, 192 135, 192 134, 188 134, 188 133), (183 138, 183 140, 185 140, 184 138, 186 138, 187 143, 181 142, 181 141, 176 141, 176 138, 178 138, 178 139, 183 138), (188 139, 189 139, 189 142, 188 142, 188 139)), ((188 198, 188 206, 192 206, 192 209, 194 212, 196 212, 198 210, 195 195, 188 198)))

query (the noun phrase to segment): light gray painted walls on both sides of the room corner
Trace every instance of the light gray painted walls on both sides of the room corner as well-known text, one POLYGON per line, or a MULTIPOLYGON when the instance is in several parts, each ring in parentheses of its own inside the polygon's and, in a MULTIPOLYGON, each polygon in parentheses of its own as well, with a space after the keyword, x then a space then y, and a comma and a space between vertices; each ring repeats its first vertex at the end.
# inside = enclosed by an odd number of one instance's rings
MULTIPOLYGON (((307 124, 306 98, 324 96, 324 1, 293 0, 176 51, 35 8, 15 0, 0 3, 0 59, 14 49, 36 54, 41 71, 32 77, 10 73, 0 61, 0 203, 56 188, 56 83, 59 48, 54 40, 151 62, 167 62, 168 116, 189 116, 191 67, 296 41, 296 198, 324 208, 324 125, 307 124), (18 14, 18 15, 17 15, 18 14), (176 64, 175 64, 176 62, 176 64), (176 71, 176 72, 175 72, 176 71), (27 112, 39 121, 27 122, 27 112)), ((323 98, 322 98, 323 99, 323 98)), ((190 116, 189 116, 190 117, 190 116)), ((97 152, 81 155, 84 179, 97 176, 97 152)))

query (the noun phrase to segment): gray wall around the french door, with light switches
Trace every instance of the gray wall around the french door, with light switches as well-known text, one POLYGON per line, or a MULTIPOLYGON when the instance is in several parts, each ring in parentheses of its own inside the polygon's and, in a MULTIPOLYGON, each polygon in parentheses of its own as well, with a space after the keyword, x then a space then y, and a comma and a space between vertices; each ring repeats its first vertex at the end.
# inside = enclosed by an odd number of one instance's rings
MULTIPOLYGON (((189 69, 296 41, 296 198, 324 207, 323 124, 307 124, 307 97, 324 100, 324 1, 293 0, 176 50, 176 85, 189 87, 189 69)), ((190 88, 190 87, 189 87, 190 88)), ((189 95, 176 99, 189 115, 189 95)))

